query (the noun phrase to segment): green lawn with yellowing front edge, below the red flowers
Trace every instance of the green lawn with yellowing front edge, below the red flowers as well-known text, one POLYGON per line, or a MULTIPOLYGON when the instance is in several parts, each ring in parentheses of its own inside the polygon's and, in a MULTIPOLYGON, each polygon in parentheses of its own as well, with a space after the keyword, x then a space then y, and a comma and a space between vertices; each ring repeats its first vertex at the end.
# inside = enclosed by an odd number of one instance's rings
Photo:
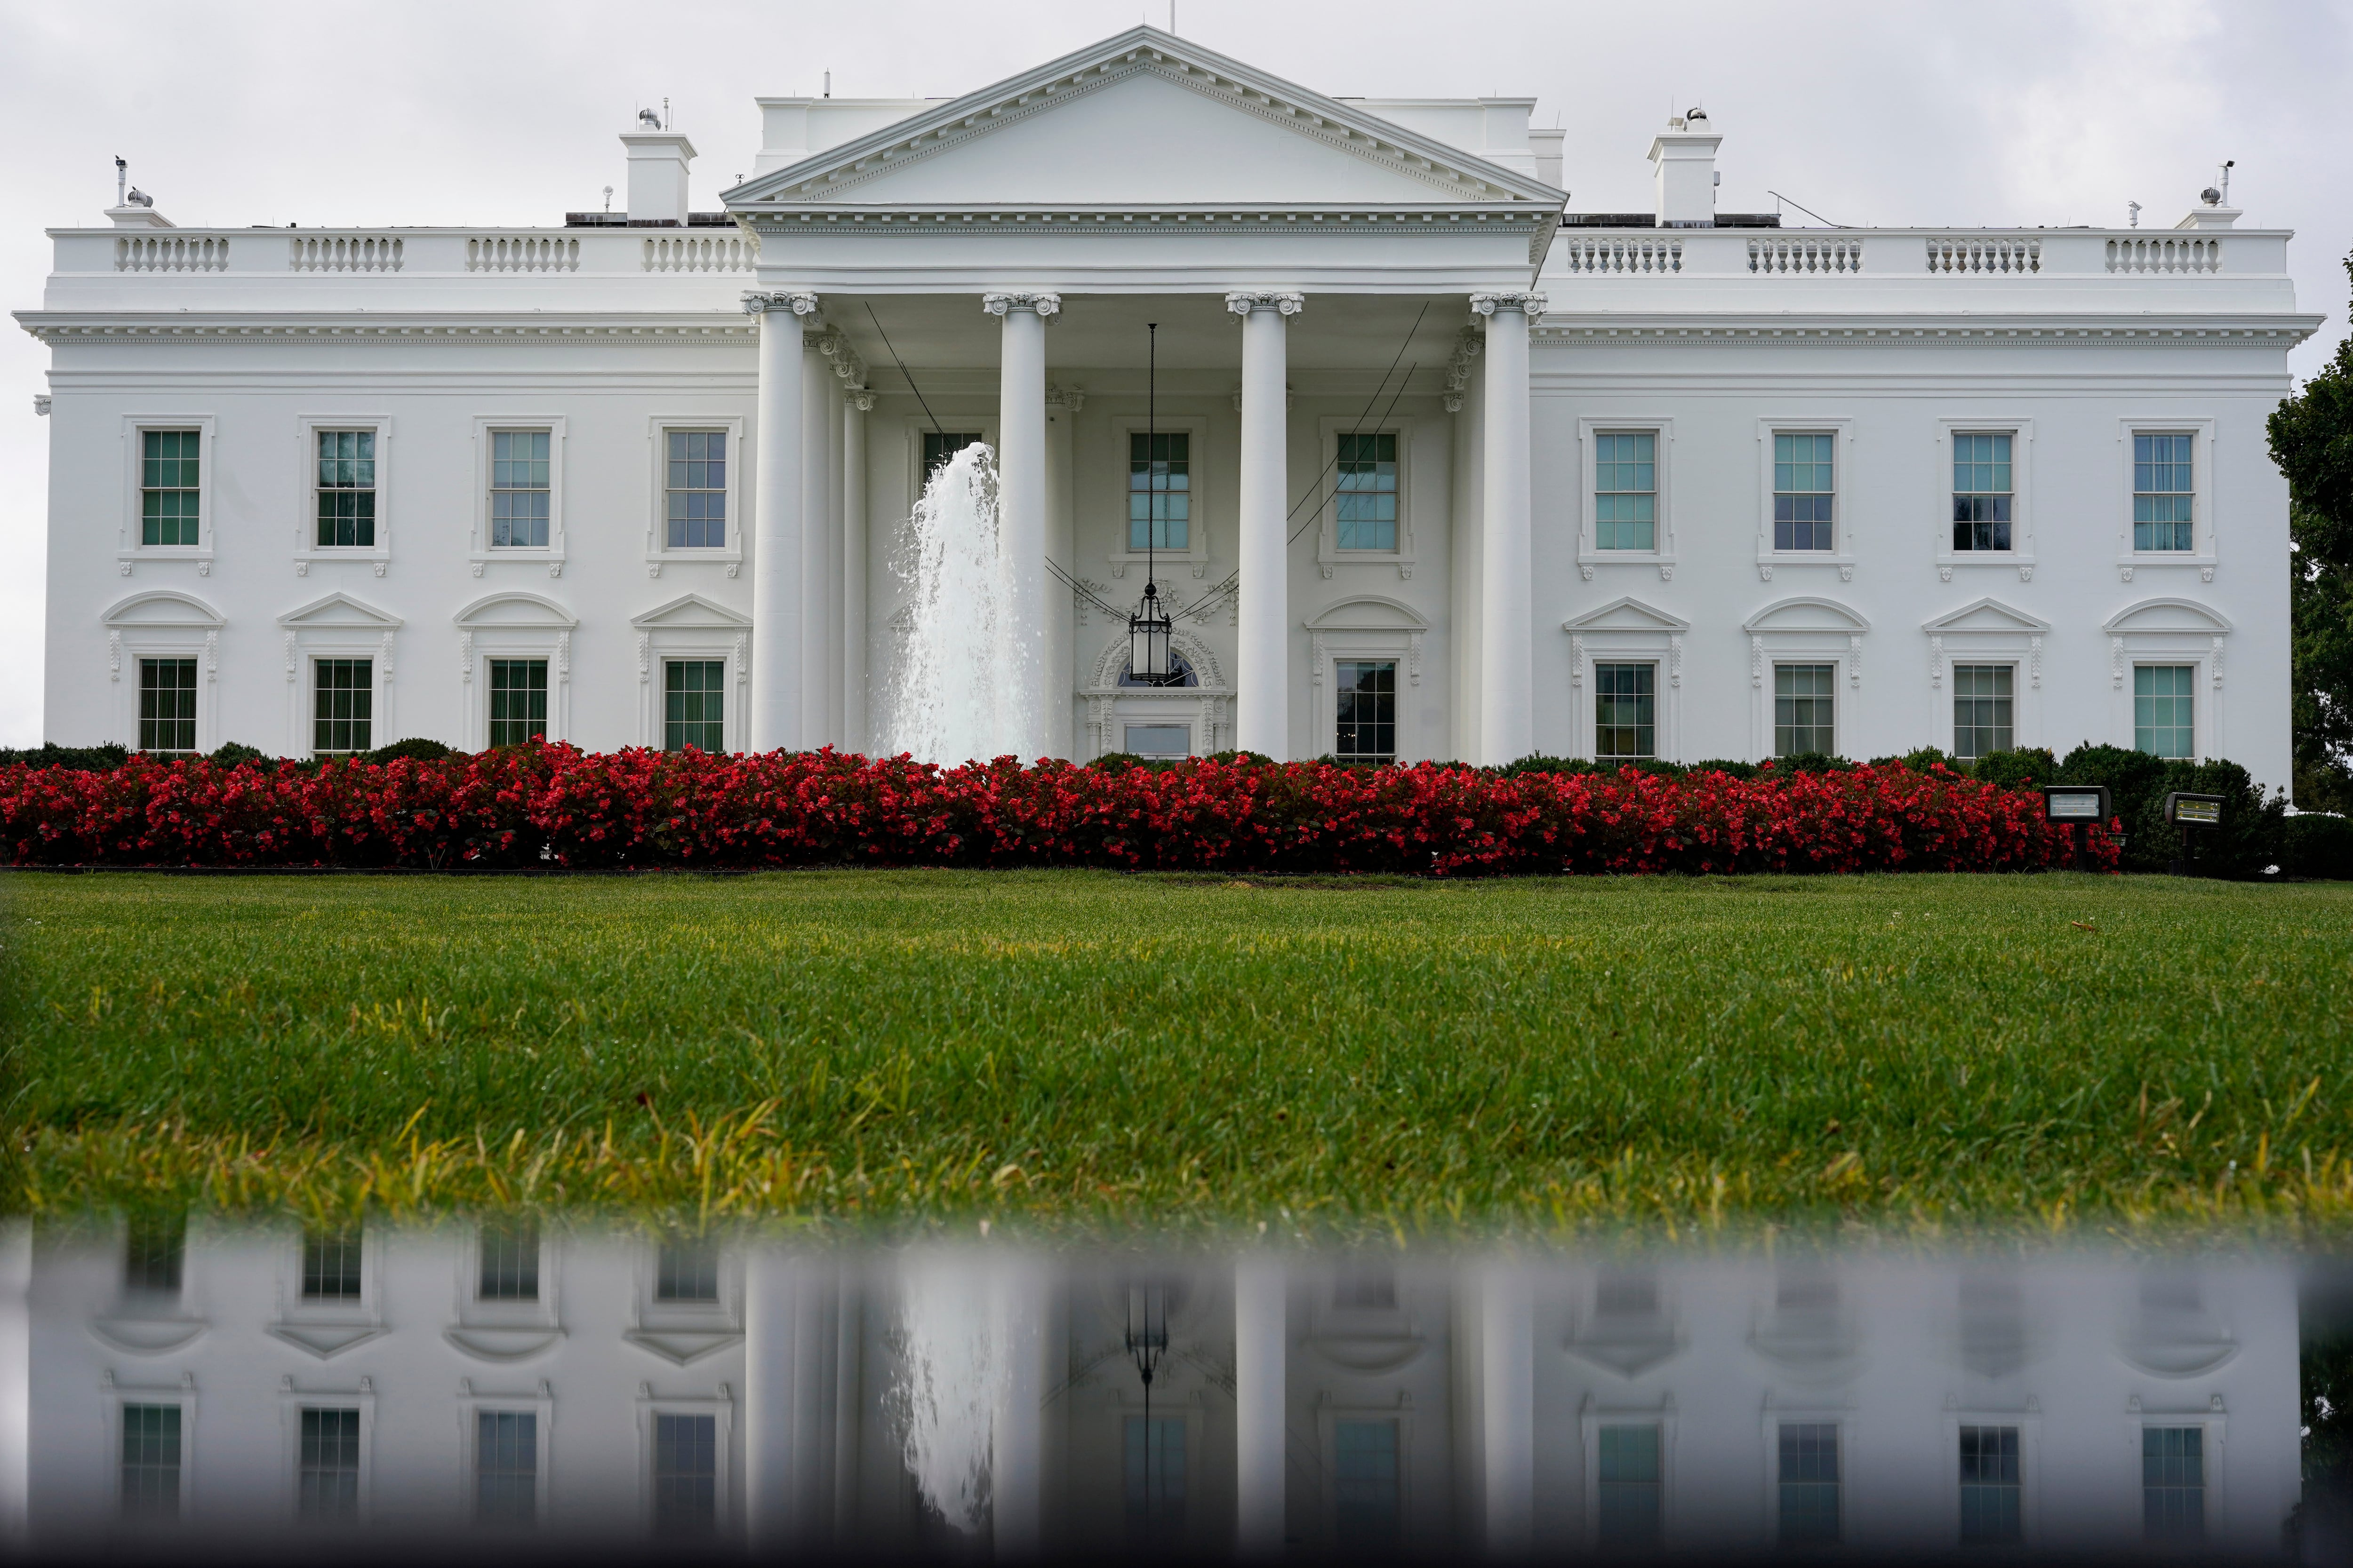
POLYGON ((2353 1234, 2353 886, 0 879, 12 1204, 2353 1234))

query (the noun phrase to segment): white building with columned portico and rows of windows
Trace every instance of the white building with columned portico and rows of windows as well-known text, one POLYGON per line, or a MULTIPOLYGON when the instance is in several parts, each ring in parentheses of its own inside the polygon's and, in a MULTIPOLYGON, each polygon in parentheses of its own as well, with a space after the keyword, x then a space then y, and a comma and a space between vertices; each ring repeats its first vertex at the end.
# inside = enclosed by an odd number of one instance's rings
POLYGON ((1026 750, 2287 783, 2285 230, 1793 230, 1715 212, 1697 113, 1654 212, 1579 214, 1532 106, 1136 28, 762 99, 725 212, 642 122, 626 216, 52 230, 49 736, 873 750, 906 517, 984 440, 1026 750))

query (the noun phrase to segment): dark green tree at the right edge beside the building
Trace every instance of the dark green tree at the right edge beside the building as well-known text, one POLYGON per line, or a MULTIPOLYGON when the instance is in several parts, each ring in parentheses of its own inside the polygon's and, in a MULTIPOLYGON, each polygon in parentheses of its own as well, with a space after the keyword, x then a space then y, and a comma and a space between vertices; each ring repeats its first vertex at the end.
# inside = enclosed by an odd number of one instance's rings
MULTIPOLYGON (((2353 256, 2346 256, 2353 275, 2353 256)), ((2271 414, 2287 475, 2297 806, 2353 809, 2353 336, 2271 414)))

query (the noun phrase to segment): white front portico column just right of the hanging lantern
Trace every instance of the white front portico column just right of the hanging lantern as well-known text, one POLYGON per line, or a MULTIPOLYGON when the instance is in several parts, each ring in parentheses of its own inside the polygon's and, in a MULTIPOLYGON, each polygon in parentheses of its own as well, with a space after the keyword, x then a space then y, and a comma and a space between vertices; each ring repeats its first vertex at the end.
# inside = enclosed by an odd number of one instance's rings
POLYGON ((1233 656, 1233 743, 1275 762, 1292 755, 1289 550, 1285 548, 1289 442, 1287 317, 1299 294, 1228 294, 1242 317, 1240 637, 1233 656))

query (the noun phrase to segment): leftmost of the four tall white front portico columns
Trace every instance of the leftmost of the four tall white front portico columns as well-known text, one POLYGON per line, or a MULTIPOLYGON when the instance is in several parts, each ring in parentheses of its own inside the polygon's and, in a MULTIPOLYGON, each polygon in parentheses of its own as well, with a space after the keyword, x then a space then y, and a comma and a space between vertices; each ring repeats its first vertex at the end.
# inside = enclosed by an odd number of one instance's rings
MULTIPOLYGON (((753 428, 751 512, 751 712, 746 745, 769 752, 802 743, 802 512, 800 512, 800 322, 816 315, 814 294, 746 294, 760 322, 760 414, 753 428)), ((654 675, 656 701, 661 675, 654 675)))

